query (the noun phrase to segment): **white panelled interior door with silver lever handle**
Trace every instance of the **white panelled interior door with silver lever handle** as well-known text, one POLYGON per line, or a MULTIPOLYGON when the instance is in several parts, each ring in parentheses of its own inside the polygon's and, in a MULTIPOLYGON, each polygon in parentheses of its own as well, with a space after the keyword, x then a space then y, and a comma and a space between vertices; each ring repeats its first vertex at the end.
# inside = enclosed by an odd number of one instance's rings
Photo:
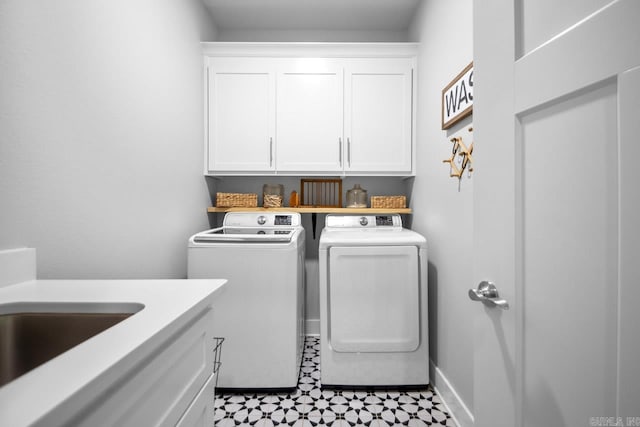
POLYGON ((476 426, 640 423, 638 17, 474 8, 474 274, 510 304, 470 302, 476 426))

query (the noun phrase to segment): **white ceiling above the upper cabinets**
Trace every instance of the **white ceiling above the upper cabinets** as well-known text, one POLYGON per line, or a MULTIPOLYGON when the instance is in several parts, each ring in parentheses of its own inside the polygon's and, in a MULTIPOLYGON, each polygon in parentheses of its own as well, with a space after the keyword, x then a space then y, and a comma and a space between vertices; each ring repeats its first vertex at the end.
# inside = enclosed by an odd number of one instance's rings
POLYGON ((406 31, 420 0, 203 0, 219 30, 406 31))

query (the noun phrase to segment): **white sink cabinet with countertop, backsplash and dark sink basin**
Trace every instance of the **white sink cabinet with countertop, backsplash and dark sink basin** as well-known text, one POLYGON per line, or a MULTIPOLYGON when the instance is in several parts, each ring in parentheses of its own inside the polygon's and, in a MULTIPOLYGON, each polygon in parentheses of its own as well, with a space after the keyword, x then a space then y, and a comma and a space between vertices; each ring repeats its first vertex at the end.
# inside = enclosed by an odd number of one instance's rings
POLYGON ((212 310, 226 280, 37 280, 35 260, 0 251, 4 347, 35 339, 4 362, 54 351, 0 387, 0 426, 213 424, 212 310))

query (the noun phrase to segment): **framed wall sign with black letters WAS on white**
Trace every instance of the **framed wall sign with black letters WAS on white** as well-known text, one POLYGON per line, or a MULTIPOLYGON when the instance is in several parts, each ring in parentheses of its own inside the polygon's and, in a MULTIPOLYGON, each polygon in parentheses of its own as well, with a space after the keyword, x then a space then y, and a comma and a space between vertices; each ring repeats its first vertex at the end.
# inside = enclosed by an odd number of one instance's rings
POLYGON ((442 129, 449 129, 473 111, 473 62, 442 89, 442 129))

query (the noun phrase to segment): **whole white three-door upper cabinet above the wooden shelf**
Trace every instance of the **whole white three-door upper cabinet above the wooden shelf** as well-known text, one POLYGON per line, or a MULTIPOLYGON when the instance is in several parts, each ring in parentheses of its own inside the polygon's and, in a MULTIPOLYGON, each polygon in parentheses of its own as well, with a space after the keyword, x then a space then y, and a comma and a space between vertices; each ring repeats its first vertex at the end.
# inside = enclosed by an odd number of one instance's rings
POLYGON ((415 45, 204 43, 212 175, 412 175, 415 45))

